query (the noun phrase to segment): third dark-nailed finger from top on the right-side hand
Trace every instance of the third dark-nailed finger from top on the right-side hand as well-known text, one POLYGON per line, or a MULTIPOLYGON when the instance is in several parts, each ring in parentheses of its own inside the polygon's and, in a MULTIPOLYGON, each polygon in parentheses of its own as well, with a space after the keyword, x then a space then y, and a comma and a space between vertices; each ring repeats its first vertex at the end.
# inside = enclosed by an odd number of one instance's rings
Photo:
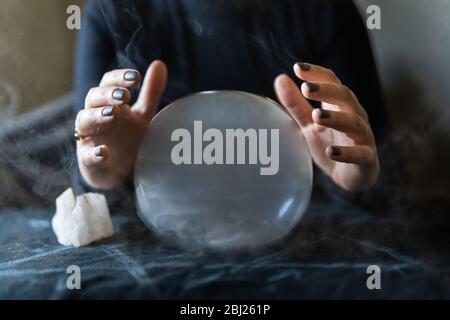
POLYGON ((315 109, 312 118, 314 123, 345 133, 357 143, 373 141, 369 125, 354 113, 315 109))

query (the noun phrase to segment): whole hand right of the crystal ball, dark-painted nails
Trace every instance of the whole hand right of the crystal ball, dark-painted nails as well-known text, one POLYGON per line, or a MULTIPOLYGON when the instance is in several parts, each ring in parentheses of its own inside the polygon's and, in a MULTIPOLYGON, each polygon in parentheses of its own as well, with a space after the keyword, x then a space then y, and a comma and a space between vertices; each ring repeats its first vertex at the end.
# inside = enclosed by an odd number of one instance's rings
POLYGON ((297 63, 294 71, 305 81, 301 90, 280 75, 275 91, 301 127, 314 162, 347 191, 373 186, 380 164, 367 113, 357 97, 329 69, 297 63), (313 109, 305 98, 320 101, 322 108, 313 109))

